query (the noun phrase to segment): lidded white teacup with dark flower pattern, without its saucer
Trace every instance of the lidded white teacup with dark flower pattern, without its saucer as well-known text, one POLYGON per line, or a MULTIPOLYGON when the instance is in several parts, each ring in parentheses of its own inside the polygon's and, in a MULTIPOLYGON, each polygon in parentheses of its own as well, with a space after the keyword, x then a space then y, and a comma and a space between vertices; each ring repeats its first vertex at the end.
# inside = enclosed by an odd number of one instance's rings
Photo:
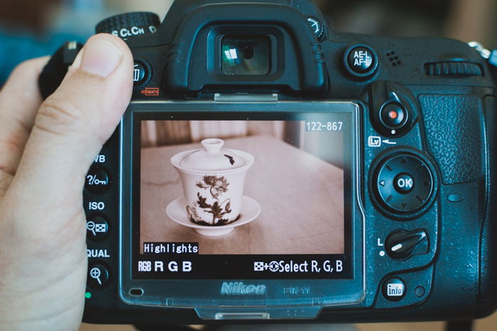
POLYGON ((192 223, 221 226, 239 218, 253 156, 241 150, 223 150, 223 145, 221 139, 205 139, 203 150, 187 150, 171 158, 180 174, 185 212, 192 223))

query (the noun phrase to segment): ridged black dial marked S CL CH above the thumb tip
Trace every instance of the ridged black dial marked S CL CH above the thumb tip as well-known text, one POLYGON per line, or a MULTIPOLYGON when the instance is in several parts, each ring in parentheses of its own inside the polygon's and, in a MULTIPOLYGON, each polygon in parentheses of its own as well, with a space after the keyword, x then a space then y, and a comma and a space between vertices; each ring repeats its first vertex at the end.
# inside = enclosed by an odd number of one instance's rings
POLYGON ((159 26, 159 16, 140 11, 106 18, 97 24, 95 30, 97 33, 111 33, 126 40, 138 35, 156 33, 159 26))

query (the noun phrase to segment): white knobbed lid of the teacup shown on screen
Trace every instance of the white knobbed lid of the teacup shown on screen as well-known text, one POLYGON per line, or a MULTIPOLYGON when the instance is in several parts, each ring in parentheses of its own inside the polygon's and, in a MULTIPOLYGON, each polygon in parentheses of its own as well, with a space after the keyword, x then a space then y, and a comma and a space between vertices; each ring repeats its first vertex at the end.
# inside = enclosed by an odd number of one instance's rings
POLYGON ((233 150, 223 150, 224 140, 202 140, 204 150, 194 150, 181 160, 180 166, 187 170, 221 171, 244 167, 246 160, 233 150))

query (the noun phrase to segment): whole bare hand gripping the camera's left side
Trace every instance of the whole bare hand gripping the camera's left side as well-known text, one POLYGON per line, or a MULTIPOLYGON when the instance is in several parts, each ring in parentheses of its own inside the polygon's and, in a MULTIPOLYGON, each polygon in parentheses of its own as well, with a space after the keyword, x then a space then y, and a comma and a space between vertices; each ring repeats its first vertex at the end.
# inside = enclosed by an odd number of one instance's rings
POLYGON ((87 277, 84 176, 126 109, 133 57, 89 39, 41 103, 48 59, 21 64, 0 93, 0 330, 77 330, 87 277))

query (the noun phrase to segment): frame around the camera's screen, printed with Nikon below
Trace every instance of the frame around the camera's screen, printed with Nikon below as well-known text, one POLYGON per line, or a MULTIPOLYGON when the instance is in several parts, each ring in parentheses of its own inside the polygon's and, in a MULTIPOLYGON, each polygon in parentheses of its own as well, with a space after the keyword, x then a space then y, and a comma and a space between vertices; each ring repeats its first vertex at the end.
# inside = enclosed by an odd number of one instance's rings
MULTIPOLYGON (((360 203, 359 189, 359 111, 356 103, 346 101, 278 101, 278 102, 212 102, 212 101, 165 101, 165 102, 133 102, 130 104, 121 125, 120 154, 120 235, 121 235, 121 267, 119 272, 119 295, 128 304, 160 305, 170 307, 198 308, 206 305, 244 305, 244 306, 302 306, 343 305, 357 303, 364 298, 364 212, 360 203), (351 130, 351 185, 350 204, 351 224, 349 227, 349 247, 346 254, 350 257, 351 278, 349 279, 133 279, 133 245, 137 230, 133 226, 133 215, 136 205, 136 191, 133 183, 137 180, 133 172, 133 157, 140 150, 141 137, 134 132, 136 123, 141 120, 167 119, 170 113, 202 113, 212 116, 216 114, 257 113, 257 120, 267 116, 268 120, 278 119, 285 114, 305 113, 349 113, 351 130), (256 111, 254 111, 256 110, 256 111), (138 149, 137 149, 138 146, 138 149), (134 208, 133 208, 134 206, 134 208), (246 284, 265 284, 267 292, 264 296, 222 296, 219 292, 224 281, 244 281, 246 284), (282 294, 288 286, 310 288, 309 294, 288 296, 282 294), (142 294, 135 296, 131 289, 141 289, 142 294), (161 294, 167 293, 167 294, 161 294)), ((209 116, 206 116, 207 118, 209 116)), ((218 116, 219 117, 219 116, 218 116)), ((138 157, 139 159, 139 157, 138 157)), ((139 177, 138 177, 139 181, 139 177)), ((139 196, 139 192, 138 192, 139 196)), ((139 201, 137 201, 139 205, 139 201)), ((139 292, 139 291, 138 291, 139 292)), ((136 291, 134 292, 136 293, 136 291)))

